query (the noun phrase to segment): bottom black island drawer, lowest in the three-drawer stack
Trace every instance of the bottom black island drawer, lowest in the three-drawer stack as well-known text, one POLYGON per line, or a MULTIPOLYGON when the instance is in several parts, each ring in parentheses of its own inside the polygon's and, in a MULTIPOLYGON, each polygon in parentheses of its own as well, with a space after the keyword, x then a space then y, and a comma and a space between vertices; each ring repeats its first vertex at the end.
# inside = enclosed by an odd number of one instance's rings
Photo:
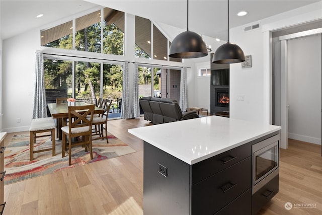
POLYGON ((249 215, 252 213, 252 189, 248 189, 215 215, 249 215))

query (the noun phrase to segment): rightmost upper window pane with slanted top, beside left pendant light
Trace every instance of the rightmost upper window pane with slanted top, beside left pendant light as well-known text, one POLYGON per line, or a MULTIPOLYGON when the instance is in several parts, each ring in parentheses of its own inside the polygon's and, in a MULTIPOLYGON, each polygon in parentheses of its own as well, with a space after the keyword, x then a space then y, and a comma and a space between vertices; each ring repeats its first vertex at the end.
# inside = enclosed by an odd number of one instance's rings
POLYGON ((168 60, 168 39, 154 25, 153 59, 168 60))

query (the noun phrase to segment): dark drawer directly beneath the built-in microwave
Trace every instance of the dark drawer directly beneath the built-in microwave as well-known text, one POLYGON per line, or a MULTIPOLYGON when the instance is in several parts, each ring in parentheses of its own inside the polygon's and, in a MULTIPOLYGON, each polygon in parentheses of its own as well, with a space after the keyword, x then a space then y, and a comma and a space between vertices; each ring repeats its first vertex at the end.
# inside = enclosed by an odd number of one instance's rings
POLYGON ((278 193, 278 175, 253 194, 252 213, 256 214, 276 193, 278 193))

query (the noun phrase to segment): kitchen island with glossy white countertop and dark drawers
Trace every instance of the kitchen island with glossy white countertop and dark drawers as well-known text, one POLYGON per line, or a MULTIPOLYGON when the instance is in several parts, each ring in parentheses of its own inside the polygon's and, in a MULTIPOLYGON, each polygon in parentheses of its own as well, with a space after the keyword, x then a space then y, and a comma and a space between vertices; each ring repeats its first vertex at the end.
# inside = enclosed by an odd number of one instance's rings
POLYGON ((252 146, 279 142, 279 130, 219 116, 129 129, 144 140, 144 213, 256 213, 266 202, 252 196, 265 192, 269 200, 278 192, 278 158, 270 180, 254 191, 252 146), (266 184, 275 190, 266 194, 266 184))

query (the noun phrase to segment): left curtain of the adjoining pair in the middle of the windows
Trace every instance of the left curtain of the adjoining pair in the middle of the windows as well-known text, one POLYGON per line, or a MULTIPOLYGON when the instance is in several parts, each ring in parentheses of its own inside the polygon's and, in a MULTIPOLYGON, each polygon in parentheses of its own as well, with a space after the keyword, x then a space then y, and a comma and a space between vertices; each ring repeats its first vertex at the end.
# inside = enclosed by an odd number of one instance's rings
POLYGON ((122 105, 121 105, 121 118, 122 119, 131 119, 132 115, 132 106, 130 105, 130 90, 129 90, 129 62, 124 61, 123 64, 123 87, 122 87, 122 105))

